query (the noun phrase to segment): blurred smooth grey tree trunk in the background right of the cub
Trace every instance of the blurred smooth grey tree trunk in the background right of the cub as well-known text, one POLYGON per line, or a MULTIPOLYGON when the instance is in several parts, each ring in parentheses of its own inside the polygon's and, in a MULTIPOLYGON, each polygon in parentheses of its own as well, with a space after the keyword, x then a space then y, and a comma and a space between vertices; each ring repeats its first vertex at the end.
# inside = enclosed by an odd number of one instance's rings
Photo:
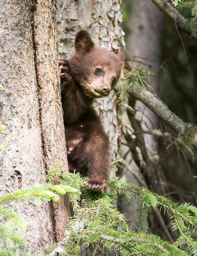
MULTIPOLYGON (((151 0, 132 0, 130 5, 131 21, 130 33, 126 42, 126 47, 133 60, 135 66, 143 67, 154 73, 149 79, 149 84, 157 91, 158 72, 160 68, 160 52, 161 52, 161 33, 163 29, 163 13, 152 3, 151 0)), ((132 67, 132 63, 129 63, 132 67)), ((150 129, 157 129, 157 118, 155 114, 141 102, 137 102, 135 108, 138 112, 139 119, 143 120, 144 127, 150 129)), ((131 125, 134 125, 131 124, 131 125)), ((135 131, 136 132, 136 131, 135 131)), ((138 131, 139 132, 139 131, 138 131)), ((146 148, 152 154, 152 151, 157 149, 155 140, 152 135, 145 134, 144 140, 146 148)), ((131 156, 127 160, 131 160, 131 156)), ((132 161, 132 169, 134 172, 139 172, 138 166, 132 161)), ((126 170, 125 170, 126 171, 126 170)), ((151 170, 153 174, 154 169, 151 170)), ((126 171, 126 180, 128 183, 139 183, 135 178, 126 171)), ((149 184, 147 184, 149 185, 149 184)), ((135 217, 135 200, 132 200, 129 205, 121 205, 120 209, 125 217, 132 219, 136 224, 135 217)), ((135 226, 134 226, 135 229, 135 226)))

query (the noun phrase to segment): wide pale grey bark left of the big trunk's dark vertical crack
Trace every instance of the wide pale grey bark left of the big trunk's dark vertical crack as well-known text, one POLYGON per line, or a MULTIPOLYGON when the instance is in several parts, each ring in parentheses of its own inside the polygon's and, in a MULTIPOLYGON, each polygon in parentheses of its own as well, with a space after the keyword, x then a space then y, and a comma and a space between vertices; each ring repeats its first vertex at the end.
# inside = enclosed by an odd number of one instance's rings
MULTIPOLYGON (((6 130, 0 141, 1 185, 11 191, 44 182, 39 102, 34 67, 31 30, 31 4, 27 1, 1 1, 0 40, 0 120, 6 130), (13 8, 14 6, 14 8, 13 8)), ((8 192, 0 187, 1 192, 8 192)), ((26 238, 36 252, 53 242, 49 204, 36 207, 34 202, 17 205, 27 221, 26 238)))

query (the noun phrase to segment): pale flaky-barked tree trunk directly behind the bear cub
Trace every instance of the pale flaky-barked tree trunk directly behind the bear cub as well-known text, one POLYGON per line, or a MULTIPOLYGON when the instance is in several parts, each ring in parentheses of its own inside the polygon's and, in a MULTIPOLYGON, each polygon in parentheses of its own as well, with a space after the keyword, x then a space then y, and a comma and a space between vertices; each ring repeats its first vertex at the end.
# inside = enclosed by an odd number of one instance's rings
MULTIPOLYGON (((122 14, 121 0, 92 0, 92 26, 89 31, 97 46, 117 52, 120 48, 119 38, 124 34, 121 30, 122 14)), ((79 29, 88 29, 91 13, 86 19, 81 14, 84 5, 82 1, 62 0, 57 4, 57 21, 59 21, 59 40, 62 57, 69 58, 73 53, 73 41, 79 29), (64 9, 62 7, 64 6, 64 9), (78 7, 80 12, 78 12, 78 7), (79 26, 80 21, 80 26, 79 26)), ((87 2, 86 2, 87 3, 87 2)), ((119 148, 119 126, 115 92, 105 99, 98 99, 96 109, 103 117, 105 130, 109 134, 112 156, 116 157, 119 148)))

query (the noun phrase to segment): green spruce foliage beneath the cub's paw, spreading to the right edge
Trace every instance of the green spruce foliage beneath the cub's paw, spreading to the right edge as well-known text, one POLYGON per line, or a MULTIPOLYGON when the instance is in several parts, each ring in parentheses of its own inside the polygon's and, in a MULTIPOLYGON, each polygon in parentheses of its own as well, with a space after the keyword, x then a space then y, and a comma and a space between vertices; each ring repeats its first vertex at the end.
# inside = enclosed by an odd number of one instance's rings
MULTIPOLYGON (((71 185, 79 190, 79 198, 73 200, 76 214, 70 221, 65 233, 65 240, 61 243, 61 255, 78 256, 82 250, 81 245, 88 247, 94 255, 152 255, 152 256, 183 256, 188 255, 180 250, 181 246, 188 246, 192 255, 197 255, 196 242, 191 233, 197 232, 197 208, 190 204, 172 202, 168 198, 153 193, 144 187, 128 184, 122 180, 108 181, 108 192, 91 192, 84 189, 86 179, 79 174, 62 172, 54 167, 49 171, 48 179, 53 176, 60 184, 71 185), (74 181, 73 181, 74 180, 74 181), (129 229, 124 216, 115 209, 115 201, 124 198, 129 202, 132 197, 138 201, 136 214, 139 217, 138 230, 129 229), (158 207, 168 213, 171 218, 172 230, 177 233, 174 245, 163 241, 157 236, 147 234, 149 227, 147 214, 152 208, 158 207)), ((72 200, 72 199, 71 199, 72 200)), ((45 251, 45 255, 47 255, 45 251)))

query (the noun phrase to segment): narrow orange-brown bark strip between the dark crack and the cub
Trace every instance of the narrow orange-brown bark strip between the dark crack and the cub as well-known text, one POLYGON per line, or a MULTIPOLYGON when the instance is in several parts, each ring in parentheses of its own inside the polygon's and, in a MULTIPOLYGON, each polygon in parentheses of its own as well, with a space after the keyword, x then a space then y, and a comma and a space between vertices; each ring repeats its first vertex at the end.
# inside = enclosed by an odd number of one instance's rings
MULTIPOLYGON (((39 122, 45 168, 53 165, 68 170, 58 72, 55 1, 37 0, 33 17, 39 122)), ((56 241, 60 241, 70 217, 67 197, 62 196, 58 203, 53 203, 52 208, 56 241)))

